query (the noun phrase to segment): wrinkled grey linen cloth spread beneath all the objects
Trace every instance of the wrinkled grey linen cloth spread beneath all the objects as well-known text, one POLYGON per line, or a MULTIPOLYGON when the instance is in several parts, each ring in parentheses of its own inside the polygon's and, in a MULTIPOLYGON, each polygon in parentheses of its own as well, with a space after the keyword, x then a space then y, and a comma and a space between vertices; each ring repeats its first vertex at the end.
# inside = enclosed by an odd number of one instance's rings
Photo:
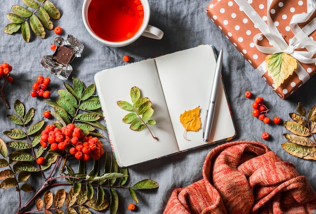
MULTIPOLYGON (((52 1, 61 11, 60 20, 53 20, 55 26, 64 29, 62 36, 74 35, 80 39, 85 48, 80 58, 74 59, 71 65, 74 68, 71 76, 76 76, 83 80, 86 85, 94 83, 93 76, 97 71, 126 64, 123 61, 124 55, 129 55, 133 61, 140 61, 146 58, 165 55, 168 53, 193 48, 201 44, 212 44, 217 51, 224 50, 223 79, 227 90, 232 114, 236 124, 237 136, 233 141, 247 140, 260 141, 267 144, 283 160, 294 163, 297 171, 306 176, 316 189, 315 162, 294 157, 284 151, 281 144, 286 142, 282 136, 288 133, 283 125, 264 124, 251 114, 251 103, 253 100, 246 99, 245 91, 251 91, 254 96, 265 99, 270 107, 269 116, 279 116, 282 120, 289 120, 289 113, 296 111, 298 102, 302 102, 306 109, 310 109, 316 104, 316 77, 311 77, 297 92, 287 100, 281 100, 260 78, 250 64, 242 57, 228 39, 221 33, 215 24, 206 16, 205 8, 209 0, 149 0, 151 16, 149 23, 159 27, 165 32, 162 40, 154 40, 146 37, 139 38, 134 44, 123 48, 111 48, 99 44, 94 40, 84 27, 81 9, 83 0, 52 1), (269 141, 261 139, 262 132, 269 132, 269 141)), ((3 29, 9 21, 6 14, 11 12, 12 5, 23 5, 20 0, 6 0, 1 3, 0 26, 3 29)), ((0 63, 8 62, 13 66, 13 83, 8 83, 4 92, 11 105, 7 109, 0 101, 0 137, 5 142, 9 142, 3 132, 16 126, 6 115, 14 114, 13 104, 19 99, 29 109, 34 107, 36 114, 34 120, 42 119, 44 110, 51 110, 43 99, 30 97, 32 83, 38 75, 49 76, 51 78, 50 91, 52 98, 58 96, 57 90, 64 89, 61 79, 50 74, 41 64, 44 55, 51 54, 50 44, 54 41, 56 34, 54 31, 46 30, 45 39, 36 37, 31 33, 29 43, 24 42, 21 33, 9 35, 1 33, 0 36, 0 63)), ((175 80, 176 81, 176 80, 175 80)), ((71 83, 71 77, 67 80, 71 83)), ((111 92, 109 92, 111 93, 111 92)), ((190 98, 188 98, 190 99, 190 98)), ((51 123, 53 120, 46 120, 51 123)), ((103 133, 106 135, 106 133, 103 133)), ((102 140, 104 149, 111 152, 110 143, 102 140)), ((150 178, 159 183, 158 189, 149 191, 139 191, 138 213, 162 213, 171 192, 175 188, 186 187, 193 182, 202 179, 201 167, 207 153, 217 145, 209 145, 192 151, 181 153, 134 165, 129 167, 130 184, 134 184, 142 179, 150 178)), ((137 154, 133 154, 137 155, 137 154)), ((58 175, 58 174, 57 174, 58 175)), ((39 175, 32 177, 29 183, 35 189, 40 187, 42 179, 39 175)), ((67 189, 68 187, 65 187, 67 189)), ((53 192, 55 190, 52 190, 53 192)), ((0 213, 15 213, 18 207, 18 193, 14 190, 0 190, 0 213)), ((24 204, 33 193, 22 193, 24 204)), ((119 213, 130 213, 127 209, 129 203, 133 202, 126 190, 118 190, 119 213)), ((34 207, 31 207, 34 209, 34 207)), ((109 212, 109 209, 107 209, 109 212)), ((94 211, 93 213, 99 213, 94 211)))

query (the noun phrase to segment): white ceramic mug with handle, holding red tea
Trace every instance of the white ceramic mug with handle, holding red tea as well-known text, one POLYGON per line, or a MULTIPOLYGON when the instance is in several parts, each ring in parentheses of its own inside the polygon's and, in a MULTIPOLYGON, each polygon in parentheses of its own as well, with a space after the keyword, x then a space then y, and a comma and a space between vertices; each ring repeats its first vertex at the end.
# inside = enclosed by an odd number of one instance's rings
MULTIPOLYGON (((154 38, 154 39, 162 39, 162 37, 164 36, 164 32, 161 29, 148 24, 149 17, 150 17, 149 3, 148 3, 148 0, 140 0, 141 5, 143 6, 144 15, 143 15, 143 22, 139 30, 131 38, 127 38, 126 40, 123 40, 123 41, 109 41, 109 40, 103 39, 93 32, 88 22, 88 9, 92 1, 95 1, 95 0, 84 0, 83 2, 83 7, 82 7, 83 23, 86 29, 88 30, 88 32, 90 33, 90 35, 106 46, 111 46, 111 47, 127 46, 131 44, 132 42, 136 41, 141 35, 149 37, 149 38, 154 38)), ((114 0, 102 0, 102 1, 114 1, 114 0)))

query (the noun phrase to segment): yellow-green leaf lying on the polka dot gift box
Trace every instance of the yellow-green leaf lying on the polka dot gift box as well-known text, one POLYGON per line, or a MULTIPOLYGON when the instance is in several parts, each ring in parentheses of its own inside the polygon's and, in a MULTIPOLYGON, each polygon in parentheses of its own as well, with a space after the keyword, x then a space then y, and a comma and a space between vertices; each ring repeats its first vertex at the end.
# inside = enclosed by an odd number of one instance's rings
POLYGON ((266 69, 276 90, 297 68, 296 60, 289 54, 277 53, 266 57, 266 69))

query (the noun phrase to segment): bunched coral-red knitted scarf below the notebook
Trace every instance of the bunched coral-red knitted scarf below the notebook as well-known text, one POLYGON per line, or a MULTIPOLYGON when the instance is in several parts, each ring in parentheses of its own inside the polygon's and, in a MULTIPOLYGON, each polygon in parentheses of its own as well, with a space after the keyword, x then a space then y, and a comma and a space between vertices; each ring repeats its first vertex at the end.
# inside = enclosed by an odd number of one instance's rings
POLYGON ((232 142, 210 151, 203 179, 175 189, 168 213, 313 213, 316 192, 290 162, 259 142, 232 142))

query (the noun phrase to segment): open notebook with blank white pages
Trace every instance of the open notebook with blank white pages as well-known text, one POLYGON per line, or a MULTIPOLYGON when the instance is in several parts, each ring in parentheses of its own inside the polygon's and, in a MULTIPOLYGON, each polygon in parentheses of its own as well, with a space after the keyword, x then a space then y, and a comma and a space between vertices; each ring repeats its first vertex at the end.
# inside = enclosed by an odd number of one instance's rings
MULTIPOLYGON (((224 53, 225 54, 225 53, 224 53)), ((203 125, 216 67, 213 46, 203 45, 172 54, 97 72, 97 93, 106 119, 109 139, 120 166, 160 158, 193 149, 203 142, 203 125), (131 102, 130 89, 138 87, 148 97, 156 124, 141 132, 122 122, 129 113, 117 101, 131 102), (200 107, 201 129, 186 132, 180 123, 184 111, 200 107), (186 140, 189 139, 190 141, 186 140)), ((219 84, 215 116, 209 142, 231 140, 236 131, 223 82, 219 84)))

